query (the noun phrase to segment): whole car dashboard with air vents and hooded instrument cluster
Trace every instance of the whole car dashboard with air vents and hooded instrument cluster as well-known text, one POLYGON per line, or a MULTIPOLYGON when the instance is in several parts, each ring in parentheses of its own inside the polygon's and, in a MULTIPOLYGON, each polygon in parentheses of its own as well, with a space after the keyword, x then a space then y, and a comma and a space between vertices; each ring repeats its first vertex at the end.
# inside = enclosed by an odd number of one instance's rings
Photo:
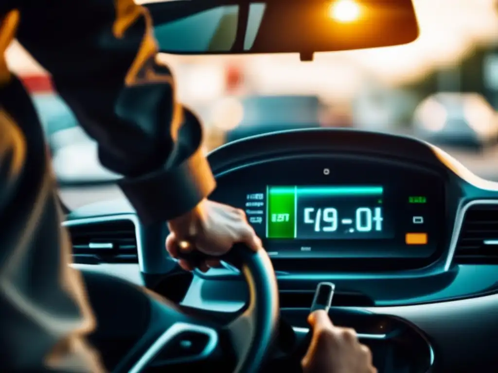
MULTIPOLYGON (((254 136, 215 150, 209 162, 218 185, 211 198, 246 212, 294 331, 307 332, 314 289, 332 281, 334 322, 369 341, 379 372, 498 363, 489 347, 498 332, 497 183, 428 143, 356 130, 254 136)), ((84 206, 64 225, 77 268, 156 289, 178 273, 164 242, 150 238, 164 238, 165 225, 142 226, 124 200, 84 206)), ((176 296, 232 312, 247 291, 239 271, 223 264, 196 271, 176 296)))

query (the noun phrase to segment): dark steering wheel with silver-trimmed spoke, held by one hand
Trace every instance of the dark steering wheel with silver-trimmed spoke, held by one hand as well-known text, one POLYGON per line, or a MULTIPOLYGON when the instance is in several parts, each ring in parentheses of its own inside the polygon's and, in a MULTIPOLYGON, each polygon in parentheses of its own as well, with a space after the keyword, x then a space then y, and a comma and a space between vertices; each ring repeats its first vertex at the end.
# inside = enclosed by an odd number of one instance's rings
MULTIPOLYGON (((193 260, 201 259, 198 252, 190 255, 195 256, 193 260)), ((264 250, 254 252, 242 244, 235 245, 227 255, 218 259, 239 268, 249 287, 249 302, 228 322, 210 318, 209 312, 204 310, 172 303, 124 280, 111 279, 112 276, 103 274, 85 274, 90 298, 92 290, 100 292, 94 297, 106 298, 106 304, 101 303, 100 311, 95 311, 97 315, 107 313, 108 321, 101 322, 103 329, 109 323, 115 324, 109 328, 132 328, 131 325, 124 326, 124 320, 115 320, 119 318, 118 308, 131 302, 147 304, 147 311, 142 309, 142 314, 147 312, 148 315, 141 317, 148 317, 147 327, 140 332, 138 343, 114 372, 138 373, 148 367, 168 369, 168 366, 178 367, 191 362, 209 365, 210 360, 220 359, 234 362, 236 373, 258 371, 270 350, 279 320, 278 287, 273 266, 264 250), (187 349, 188 353, 179 348, 182 343, 193 344, 187 349)))

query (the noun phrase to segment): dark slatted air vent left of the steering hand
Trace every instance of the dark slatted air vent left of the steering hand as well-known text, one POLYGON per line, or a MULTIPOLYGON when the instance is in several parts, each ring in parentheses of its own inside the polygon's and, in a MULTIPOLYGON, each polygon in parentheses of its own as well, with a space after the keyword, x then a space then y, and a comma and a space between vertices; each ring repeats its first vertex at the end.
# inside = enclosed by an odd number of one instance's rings
POLYGON ((135 224, 129 219, 67 222, 73 262, 80 264, 138 263, 135 224))

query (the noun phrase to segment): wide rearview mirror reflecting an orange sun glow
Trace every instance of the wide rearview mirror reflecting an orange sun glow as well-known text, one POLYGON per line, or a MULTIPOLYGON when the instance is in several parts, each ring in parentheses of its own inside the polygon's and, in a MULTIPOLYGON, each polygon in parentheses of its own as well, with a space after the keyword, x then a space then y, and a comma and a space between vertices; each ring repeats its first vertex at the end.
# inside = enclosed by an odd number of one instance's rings
POLYGON ((173 54, 300 53, 385 47, 418 36, 411 0, 177 0, 145 4, 173 54))

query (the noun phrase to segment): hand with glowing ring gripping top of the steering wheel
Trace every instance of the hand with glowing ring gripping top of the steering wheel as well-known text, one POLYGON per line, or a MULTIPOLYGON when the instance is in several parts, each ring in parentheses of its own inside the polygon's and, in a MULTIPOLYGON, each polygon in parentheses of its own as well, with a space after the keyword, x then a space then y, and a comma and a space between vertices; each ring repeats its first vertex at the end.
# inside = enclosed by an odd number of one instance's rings
POLYGON ((198 267, 206 272, 210 267, 220 265, 219 260, 201 260, 202 256, 197 256, 197 263, 193 259, 181 259, 182 254, 194 250, 207 257, 219 257, 227 254, 236 243, 243 243, 254 251, 262 247, 243 210, 207 199, 186 214, 170 220, 168 227, 170 234, 166 238, 166 250, 187 271, 198 267))

